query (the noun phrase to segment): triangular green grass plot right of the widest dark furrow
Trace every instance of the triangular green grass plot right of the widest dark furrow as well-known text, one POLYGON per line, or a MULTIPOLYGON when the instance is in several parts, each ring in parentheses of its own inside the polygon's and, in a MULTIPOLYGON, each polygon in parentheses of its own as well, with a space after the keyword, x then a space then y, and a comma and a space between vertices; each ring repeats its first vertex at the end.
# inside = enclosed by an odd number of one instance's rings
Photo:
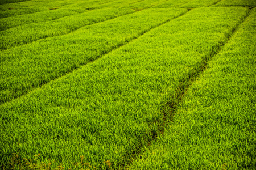
POLYGON ((192 83, 131 169, 254 169, 256 9, 192 83))

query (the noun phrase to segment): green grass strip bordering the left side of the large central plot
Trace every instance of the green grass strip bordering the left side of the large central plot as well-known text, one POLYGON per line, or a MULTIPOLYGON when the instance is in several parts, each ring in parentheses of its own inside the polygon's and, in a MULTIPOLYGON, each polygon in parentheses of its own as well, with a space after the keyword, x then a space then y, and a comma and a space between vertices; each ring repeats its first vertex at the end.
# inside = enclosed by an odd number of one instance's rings
MULTIPOLYGON (((106 17, 110 11, 100 10, 99 14, 106 17)), ((143 10, 83 27, 68 35, 3 50, 0 54, 0 101, 9 101, 77 69, 186 11, 183 8, 143 10)))

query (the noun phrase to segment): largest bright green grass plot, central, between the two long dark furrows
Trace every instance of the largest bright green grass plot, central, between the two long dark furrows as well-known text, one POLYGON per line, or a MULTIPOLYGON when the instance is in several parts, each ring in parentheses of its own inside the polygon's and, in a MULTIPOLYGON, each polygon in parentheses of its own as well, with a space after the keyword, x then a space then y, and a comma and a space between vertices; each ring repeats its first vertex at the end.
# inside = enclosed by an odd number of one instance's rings
MULTIPOLYGON (((115 169, 126 167, 162 129, 162 108, 179 80, 218 49, 246 13, 242 7, 191 10, 79 70, 2 104, 1 163, 19 152, 20 158, 40 153, 39 162, 51 158, 67 168, 79 162, 79 155, 99 169, 106 169, 104 160, 115 169)), ((117 27, 120 24, 113 25, 117 27)), ((59 42, 61 46, 65 41, 59 42)))

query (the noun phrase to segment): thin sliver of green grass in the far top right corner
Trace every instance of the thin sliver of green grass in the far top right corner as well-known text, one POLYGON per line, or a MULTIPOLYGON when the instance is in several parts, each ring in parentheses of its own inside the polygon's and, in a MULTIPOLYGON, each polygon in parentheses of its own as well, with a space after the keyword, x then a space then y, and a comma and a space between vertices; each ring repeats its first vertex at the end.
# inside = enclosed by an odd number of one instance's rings
POLYGON ((256 7, 255 0, 222 0, 216 6, 246 6, 256 7))

